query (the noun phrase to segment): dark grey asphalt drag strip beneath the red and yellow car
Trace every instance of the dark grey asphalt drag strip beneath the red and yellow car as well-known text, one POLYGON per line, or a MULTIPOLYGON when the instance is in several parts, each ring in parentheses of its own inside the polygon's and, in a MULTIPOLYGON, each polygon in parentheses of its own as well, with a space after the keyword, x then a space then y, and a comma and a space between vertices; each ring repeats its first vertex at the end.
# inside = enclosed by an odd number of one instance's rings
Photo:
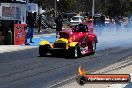
POLYGON ((8 60, 4 60, 6 55, 3 56, 3 61, 0 62, 0 79, 2 79, 0 80, 0 88, 59 87, 75 80, 75 73, 80 65, 88 73, 93 73, 128 59, 127 57, 132 55, 132 44, 98 50, 95 55, 83 56, 78 59, 52 56, 38 57, 38 48, 18 53, 21 54, 22 58, 20 56, 15 57, 13 54, 16 52, 8 55, 10 57, 8 60))

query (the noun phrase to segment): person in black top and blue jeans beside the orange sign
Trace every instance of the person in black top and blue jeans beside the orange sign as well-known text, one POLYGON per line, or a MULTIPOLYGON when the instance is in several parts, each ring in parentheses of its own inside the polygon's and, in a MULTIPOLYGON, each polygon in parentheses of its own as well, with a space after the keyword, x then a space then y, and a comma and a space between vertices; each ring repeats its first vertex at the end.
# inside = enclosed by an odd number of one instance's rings
POLYGON ((30 45, 27 42, 27 39, 30 38, 30 43, 34 43, 32 41, 33 33, 34 33, 34 27, 35 27, 35 19, 34 19, 34 16, 33 16, 33 12, 30 12, 29 15, 27 16, 26 23, 27 23, 27 33, 26 33, 25 45, 30 45))

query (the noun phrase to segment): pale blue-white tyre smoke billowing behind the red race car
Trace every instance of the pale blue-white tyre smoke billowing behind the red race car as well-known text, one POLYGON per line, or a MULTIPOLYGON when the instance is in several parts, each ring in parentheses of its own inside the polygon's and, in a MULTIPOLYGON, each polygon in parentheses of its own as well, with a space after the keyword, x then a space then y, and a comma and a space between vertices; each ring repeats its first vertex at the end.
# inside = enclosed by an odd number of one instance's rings
MULTIPOLYGON (((131 25, 131 24, 129 24, 131 25)), ((132 25, 131 25, 132 26, 132 25)), ((105 27, 104 29, 95 28, 94 32, 98 36, 97 50, 122 46, 132 43, 132 28, 117 25, 105 27)))

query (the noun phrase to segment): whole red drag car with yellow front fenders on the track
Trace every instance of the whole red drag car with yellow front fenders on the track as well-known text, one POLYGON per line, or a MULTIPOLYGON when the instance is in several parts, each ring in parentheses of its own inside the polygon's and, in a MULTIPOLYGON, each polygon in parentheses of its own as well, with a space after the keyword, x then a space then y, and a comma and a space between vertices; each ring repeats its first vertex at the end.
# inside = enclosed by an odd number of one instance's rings
POLYGON ((53 44, 46 40, 41 41, 39 54, 45 56, 48 52, 53 55, 64 53, 69 58, 77 58, 85 54, 94 54, 96 43, 97 36, 93 29, 88 28, 88 24, 81 23, 72 29, 61 31, 53 44))

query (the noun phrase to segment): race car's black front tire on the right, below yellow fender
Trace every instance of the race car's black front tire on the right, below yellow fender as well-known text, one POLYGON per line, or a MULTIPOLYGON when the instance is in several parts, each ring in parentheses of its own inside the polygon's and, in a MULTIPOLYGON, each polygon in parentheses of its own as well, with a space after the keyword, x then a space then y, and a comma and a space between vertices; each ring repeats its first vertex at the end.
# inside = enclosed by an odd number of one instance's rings
POLYGON ((80 56, 81 56, 80 47, 78 45, 76 45, 75 47, 70 47, 68 49, 67 58, 76 59, 80 56))

